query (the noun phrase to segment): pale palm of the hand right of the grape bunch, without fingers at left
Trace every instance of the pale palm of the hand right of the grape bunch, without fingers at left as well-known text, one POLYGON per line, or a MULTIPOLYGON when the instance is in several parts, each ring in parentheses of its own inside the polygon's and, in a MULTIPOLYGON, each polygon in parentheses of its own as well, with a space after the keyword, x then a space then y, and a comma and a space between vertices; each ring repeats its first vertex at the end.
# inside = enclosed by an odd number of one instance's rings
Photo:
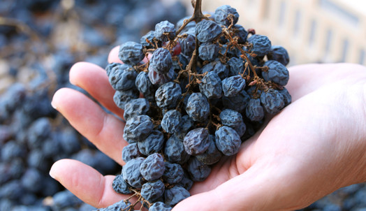
MULTIPOLYGON (((337 70, 335 65, 309 65, 292 68, 291 77, 288 90, 293 103, 247 140, 236 157, 222 161, 207 180, 195 184, 193 194, 213 190, 212 197, 202 195, 212 203, 237 198, 233 207, 214 203, 217 210, 293 210, 348 185, 349 180, 339 177, 346 177, 350 170, 365 169, 351 166, 354 158, 344 150, 365 131, 360 119, 352 118, 365 111, 365 99, 359 97, 365 92, 365 73, 337 70), (316 78, 309 76, 315 73, 316 78), (253 203, 258 198, 261 203, 253 203)), ((199 201, 203 201, 200 194, 178 205, 177 210, 189 210, 190 204, 197 208, 199 201)), ((210 209, 202 205, 197 210, 210 209)))

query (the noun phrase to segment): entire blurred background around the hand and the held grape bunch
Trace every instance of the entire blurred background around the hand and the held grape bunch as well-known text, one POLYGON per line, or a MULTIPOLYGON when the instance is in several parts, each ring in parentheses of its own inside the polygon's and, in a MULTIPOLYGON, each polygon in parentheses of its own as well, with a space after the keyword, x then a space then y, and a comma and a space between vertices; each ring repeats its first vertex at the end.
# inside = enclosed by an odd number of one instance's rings
MULTIPOLYGON (((245 29, 283 45, 290 66, 309 62, 366 64, 366 1, 203 1, 229 4, 245 29)), ((96 150, 51 106, 78 61, 105 67, 108 52, 162 20, 192 12, 189 0, 0 1, 0 210, 93 210, 53 180, 54 161, 78 159, 103 174, 120 166, 96 150)), ((84 92, 78 89, 80 92, 84 92)), ((85 93, 85 92, 84 92, 85 93)), ((85 93, 87 94, 87 93, 85 93)), ((354 184, 304 210, 366 210, 365 184, 354 184)))

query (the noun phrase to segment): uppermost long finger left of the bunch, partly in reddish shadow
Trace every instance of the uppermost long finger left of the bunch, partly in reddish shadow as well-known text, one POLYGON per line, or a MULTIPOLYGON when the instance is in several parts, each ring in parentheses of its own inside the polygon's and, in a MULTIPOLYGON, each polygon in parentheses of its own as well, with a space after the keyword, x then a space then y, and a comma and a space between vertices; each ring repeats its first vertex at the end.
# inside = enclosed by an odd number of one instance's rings
POLYGON ((113 101, 115 89, 108 81, 108 75, 103 68, 88 62, 78 62, 71 67, 70 82, 85 89, 105 108, 123 118, 124 111, 113 101))

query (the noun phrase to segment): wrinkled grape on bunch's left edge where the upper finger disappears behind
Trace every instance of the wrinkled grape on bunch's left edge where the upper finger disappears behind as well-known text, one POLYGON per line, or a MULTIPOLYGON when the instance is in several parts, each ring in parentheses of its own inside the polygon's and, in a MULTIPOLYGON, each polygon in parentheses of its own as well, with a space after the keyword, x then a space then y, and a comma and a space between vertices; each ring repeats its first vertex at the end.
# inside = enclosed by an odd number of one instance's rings
POLYGON ((149 101, 146 99, 131 99, 131 101, 124 105, 124 119, 127 121, 131 117, 146 115, 149 109, 149 101))

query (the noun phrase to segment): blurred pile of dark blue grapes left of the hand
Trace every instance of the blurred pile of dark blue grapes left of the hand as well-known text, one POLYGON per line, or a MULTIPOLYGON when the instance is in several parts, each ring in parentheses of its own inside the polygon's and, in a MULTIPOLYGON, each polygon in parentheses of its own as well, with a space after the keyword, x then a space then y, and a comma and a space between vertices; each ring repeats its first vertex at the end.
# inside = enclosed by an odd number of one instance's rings
POLYGON ((50 177, 52 163, 77 159, 104 175, 120 167, 50 106, 52 95, 78 89, 68 82, 76 62, 105 66, 111 46, 185 14, 158 0, 1 1, 0 210, 94 209, 50 177))

